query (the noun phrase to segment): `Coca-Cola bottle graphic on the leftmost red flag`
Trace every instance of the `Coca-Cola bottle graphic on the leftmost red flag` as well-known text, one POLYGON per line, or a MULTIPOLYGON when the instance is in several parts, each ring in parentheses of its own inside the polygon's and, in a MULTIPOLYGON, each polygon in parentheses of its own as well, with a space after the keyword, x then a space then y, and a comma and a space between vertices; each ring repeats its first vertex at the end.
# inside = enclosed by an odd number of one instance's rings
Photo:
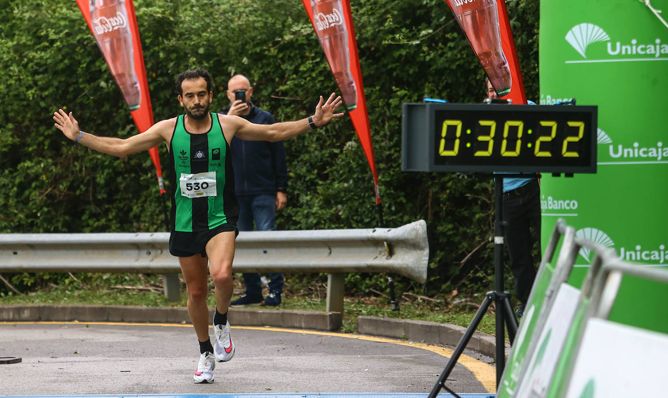
POLYGON ((98 47, 130 111, 138 109, 142 93, 134 73, 132 33, 125 0, 90 0, 90 19, 98 47))

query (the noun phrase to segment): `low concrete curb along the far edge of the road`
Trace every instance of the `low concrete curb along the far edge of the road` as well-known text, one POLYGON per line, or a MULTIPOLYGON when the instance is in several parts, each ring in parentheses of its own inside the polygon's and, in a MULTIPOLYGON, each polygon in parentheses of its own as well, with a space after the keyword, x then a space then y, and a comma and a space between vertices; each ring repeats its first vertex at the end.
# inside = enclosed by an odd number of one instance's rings
MULTIPOLYGON (((210 317, 214 309, 210 309, 210 317)), ((343 316, 337 312, 296 311, 232 307, 230 323, 238 326, 273 326, 293 329, 337 331, 343 316)), ((129 323, 190 323, 184 307, 140 307, 133 305, 2 305, 0 321, 79 321, 129 323)), ((406 339, 418 343, 456 346, 465 327, 449 323, 413 321, 380 317, 357 317, 357 332, 362 335, 406 339)), ((494 358, 496 339, 476 331, 468 349, 494 358)), ((510 347, 506 345, 506 357, 510 347)))

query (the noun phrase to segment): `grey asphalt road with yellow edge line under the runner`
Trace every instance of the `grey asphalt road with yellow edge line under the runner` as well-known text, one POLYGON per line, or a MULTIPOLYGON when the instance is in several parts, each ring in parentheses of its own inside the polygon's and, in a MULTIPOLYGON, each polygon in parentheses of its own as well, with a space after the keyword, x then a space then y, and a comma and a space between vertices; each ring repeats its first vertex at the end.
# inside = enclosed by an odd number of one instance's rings
MULTIPOLYGON (((191 325, 0 323, 1 395, 429 393, 448 349, 360 335, 234 327, 234 358, 215 382, 192 373, 198 344, 191 325)), ((446 385, 488 393, 494 367, 464 358, 446 385), (486 387, 487 386, 487 387, 486 387)), ((493 384, 492 386, 493 387, 493 384)))

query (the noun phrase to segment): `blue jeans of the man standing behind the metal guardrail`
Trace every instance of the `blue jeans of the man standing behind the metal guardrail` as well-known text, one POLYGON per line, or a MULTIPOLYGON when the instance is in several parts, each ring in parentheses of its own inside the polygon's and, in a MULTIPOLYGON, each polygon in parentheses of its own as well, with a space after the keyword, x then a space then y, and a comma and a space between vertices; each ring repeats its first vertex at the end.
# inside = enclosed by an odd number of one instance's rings
MULTIPOLYGON (((275 231, 276 197, 273 195, 238 195, 239 219, 236 227, 239 231, 275 231)), ((244 285, 247 295, 262 295, 259 273, 244 273, 244 285)), ((283 274, 269 273, 269 291, 283 293, 283 274)))

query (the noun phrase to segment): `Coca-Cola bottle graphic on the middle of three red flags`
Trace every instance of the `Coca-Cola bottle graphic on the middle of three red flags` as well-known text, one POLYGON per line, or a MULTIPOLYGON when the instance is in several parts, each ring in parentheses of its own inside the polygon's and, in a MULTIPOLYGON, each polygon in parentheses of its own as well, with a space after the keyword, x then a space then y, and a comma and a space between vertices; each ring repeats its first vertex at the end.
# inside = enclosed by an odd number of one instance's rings
POLYGON ((346 109, 357 107, 357 86, 350 73, 348 29, 343 17, 341 0, 311 0, 313 25, 318 41, 325 51, 346 109))

